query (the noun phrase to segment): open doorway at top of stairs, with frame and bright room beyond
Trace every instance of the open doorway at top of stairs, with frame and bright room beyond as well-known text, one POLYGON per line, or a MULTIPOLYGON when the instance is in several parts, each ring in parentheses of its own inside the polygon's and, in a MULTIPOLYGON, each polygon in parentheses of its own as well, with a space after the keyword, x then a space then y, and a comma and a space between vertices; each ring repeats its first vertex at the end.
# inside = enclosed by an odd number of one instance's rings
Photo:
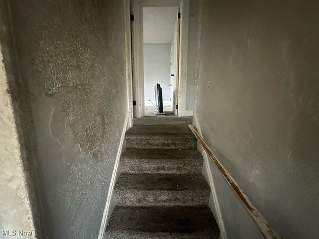
POLYGON ((188 13, 188 0, 131 1, 135 118, 145 116, 146 112, 154 115, 157 83, 162 88, 164 111, 189 116, 189 112, 183 110, 186 105, 188 13))

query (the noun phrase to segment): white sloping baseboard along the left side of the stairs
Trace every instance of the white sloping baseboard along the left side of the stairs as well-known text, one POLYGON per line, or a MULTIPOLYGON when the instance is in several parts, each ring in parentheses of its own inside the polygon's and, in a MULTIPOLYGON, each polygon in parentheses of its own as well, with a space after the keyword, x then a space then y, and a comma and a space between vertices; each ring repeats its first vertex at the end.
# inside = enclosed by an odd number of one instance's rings
POLYGON ((126 133, 127 129, 131 127, 130 122, 131 122, 131 113, 128 112, 126 114, 125 122, 124 122, 123 129, 122 129, 120 144, 119 144, 118 152, 117 152, 116 159, 115 159, 115 164, 114 164, 114 168, 113 168, 113 173, 112 173, 112 177, 111 177, 108 195, 106 198, 105 208, 103 211, 103 217, 102 217, 102 222, 101 222, 101 227, 100 227, 98 239, 104 238, 104 233, 105 233, 107 223, 111 217, 111 214, 112 214, 114 206, 115 206, 115 203, 112 203, 112 202, 114 202, 113 190, 114 190, 114 186, 115 186, 117 176, 118 176, 120 157, 121 157, 122 152, 125 149, 125 133, 126 133))

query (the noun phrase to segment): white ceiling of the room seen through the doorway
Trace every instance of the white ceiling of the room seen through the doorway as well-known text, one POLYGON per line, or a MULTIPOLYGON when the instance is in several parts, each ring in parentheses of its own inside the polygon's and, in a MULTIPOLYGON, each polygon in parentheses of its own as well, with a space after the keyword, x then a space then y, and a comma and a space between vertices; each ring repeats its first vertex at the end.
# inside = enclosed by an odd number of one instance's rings
POLYGON ((144 7, 144 43, 170 43, 173 36, 177 7, 144 7))

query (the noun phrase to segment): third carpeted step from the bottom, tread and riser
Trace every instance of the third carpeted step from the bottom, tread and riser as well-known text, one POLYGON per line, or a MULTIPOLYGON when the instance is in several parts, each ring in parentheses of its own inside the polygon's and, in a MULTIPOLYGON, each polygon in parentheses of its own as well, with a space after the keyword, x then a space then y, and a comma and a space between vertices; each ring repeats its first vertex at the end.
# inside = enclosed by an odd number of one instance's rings
POLYGON ((123 173, 201 174, 203 157, 197 149, 127 149, 123 173))

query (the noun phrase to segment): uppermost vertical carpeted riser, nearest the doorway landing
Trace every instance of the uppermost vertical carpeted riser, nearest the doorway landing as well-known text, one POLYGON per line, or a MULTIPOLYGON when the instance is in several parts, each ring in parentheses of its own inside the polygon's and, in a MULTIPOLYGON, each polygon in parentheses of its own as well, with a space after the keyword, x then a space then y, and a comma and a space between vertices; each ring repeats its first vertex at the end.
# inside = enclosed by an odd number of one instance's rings
POLYGON ((127 148, 162 148, 162 149, 193 149, 197 147, 197 140, 193 137, 126 137, 127 148))

